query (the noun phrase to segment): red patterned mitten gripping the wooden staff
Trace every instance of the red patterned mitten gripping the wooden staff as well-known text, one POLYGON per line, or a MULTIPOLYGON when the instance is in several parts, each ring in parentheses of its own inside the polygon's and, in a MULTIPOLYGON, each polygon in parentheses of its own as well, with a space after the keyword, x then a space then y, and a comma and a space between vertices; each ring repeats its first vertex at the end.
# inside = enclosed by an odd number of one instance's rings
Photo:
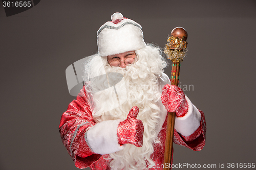
POLYGON ((168 112, 175 112, 177 117, 182 117, 187 113, 188 104, 184 92, 175 85, 166 84, 162 88, 162 103, 168 112))

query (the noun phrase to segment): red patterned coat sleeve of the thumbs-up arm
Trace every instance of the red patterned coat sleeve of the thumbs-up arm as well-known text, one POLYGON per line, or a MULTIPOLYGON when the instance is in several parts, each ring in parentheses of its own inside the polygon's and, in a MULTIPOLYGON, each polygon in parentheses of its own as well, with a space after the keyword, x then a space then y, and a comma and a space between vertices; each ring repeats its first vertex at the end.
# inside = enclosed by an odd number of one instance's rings
POLYGON ((86 168, 101 157, 86 142, 86 132, 95 124, 83 87, 62 114, 59 125, 61 140, 78 168, 86 168))

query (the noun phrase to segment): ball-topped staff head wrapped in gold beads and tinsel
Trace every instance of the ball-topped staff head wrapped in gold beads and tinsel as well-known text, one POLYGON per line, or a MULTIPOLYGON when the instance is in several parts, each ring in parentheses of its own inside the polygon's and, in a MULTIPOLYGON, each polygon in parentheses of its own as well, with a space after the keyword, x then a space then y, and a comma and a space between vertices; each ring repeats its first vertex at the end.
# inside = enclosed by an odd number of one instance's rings
POLYGON ((168 56, 169 60, 173 62, 181 62, 186 56, 187 52, 187 32, 182 27, 176 27, 170 33, 165 44, 164 53, 168 56))

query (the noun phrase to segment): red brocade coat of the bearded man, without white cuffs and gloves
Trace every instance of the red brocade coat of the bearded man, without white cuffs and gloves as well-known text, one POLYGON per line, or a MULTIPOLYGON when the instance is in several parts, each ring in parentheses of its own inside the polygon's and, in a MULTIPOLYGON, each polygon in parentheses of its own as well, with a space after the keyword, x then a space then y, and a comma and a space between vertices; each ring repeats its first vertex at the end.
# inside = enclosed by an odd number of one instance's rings
MULTIPOLYGON (((109 167, 109 162, 111 160, 104 159, 109 158, 109 155, 102 156, 93 153, 86 142, 86 131, 96 123, 92 118, 92 111, 85 93, 85 89, 81 89, 77 99, 71 102, 68 110, 62 114, 59 125, 62 142, 75 162, 76 167, 86 168, 90 166, 92 170, 111 169, 109 167)), ((203 149, 205 145, 206 123, 204 113, 202 111, 200 111, 200 113, 202 117, 200 127, 190 136, 182 136, 175 130, 174 143, 183 145, 194 151, 200 151, 203 149)), ((165 118, 162 129, 158 134, 160 142, 154 143, 154 152, 152 154, 153 161, 159 166, 163 164, 166 125, 167 117, 165 118)), ((162 168, 154 166, 150 169, 160 170, 162 168)))

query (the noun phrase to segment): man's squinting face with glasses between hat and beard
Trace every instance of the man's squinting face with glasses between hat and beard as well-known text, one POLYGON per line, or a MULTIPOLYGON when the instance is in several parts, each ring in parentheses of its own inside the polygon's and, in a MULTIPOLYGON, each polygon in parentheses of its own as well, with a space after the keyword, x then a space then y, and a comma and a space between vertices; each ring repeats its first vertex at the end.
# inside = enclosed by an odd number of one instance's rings
POLYGON ((126 65, 133 64, 135 59, 135 51, 129 51, 125 53, 119 53, 112 56, 108 56, 108 63, 111 67, 125 68, 126 65))

